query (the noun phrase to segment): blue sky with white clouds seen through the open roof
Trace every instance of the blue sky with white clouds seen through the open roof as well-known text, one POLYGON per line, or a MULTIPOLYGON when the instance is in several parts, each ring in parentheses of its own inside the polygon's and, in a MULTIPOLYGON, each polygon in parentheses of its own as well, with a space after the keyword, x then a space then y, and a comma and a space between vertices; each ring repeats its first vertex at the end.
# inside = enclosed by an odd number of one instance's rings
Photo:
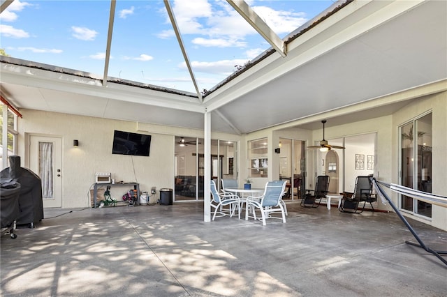
MULTIPOLYGON (((281 38, 334 1, 246 1, 281 38)), ((224 0, 170 1, 201 90, 270 45, 224 0)), ((15 0, 0 15, 10 56, 103 75, 110 1, 15 0)), ((117 0, 108 75, 194 92, 163 1, 117 0)))

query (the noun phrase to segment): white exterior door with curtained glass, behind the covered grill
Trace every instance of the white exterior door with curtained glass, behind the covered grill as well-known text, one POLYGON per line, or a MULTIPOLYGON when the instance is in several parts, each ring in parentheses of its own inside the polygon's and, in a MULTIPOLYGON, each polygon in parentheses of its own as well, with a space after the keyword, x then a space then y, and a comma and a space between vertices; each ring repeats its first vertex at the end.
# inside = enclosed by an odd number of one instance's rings
POLYGON ((30 135, 29 169, 42 180, 43 208, 61 207, 61 137, 30 135))

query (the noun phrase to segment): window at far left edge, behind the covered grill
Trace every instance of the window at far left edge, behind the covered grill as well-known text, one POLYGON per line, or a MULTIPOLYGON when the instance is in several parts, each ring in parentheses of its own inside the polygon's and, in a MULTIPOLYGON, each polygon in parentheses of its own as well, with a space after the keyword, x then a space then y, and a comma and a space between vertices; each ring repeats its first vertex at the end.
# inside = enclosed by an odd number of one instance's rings
POLYGON ((11 112, 8 107, 6 107, 6 105, 1 104, 0 105, 0 134, 1 134, 1 139, 0 139, 0 149, 1 149, 1 154, 0 154, 0 160, 1 160, 1 164, 2 164, 2 168, 6 168, 8 167, 8 156, 9 155, 15 155, 16 153, 16 138, 17 138, 17 116, 15 114, 13 114, 13 112, 11 112), (7 125, 8 128, 6 131, 3 131, 3 119, 6 117, 7 119, 7 125), (4 134, 6 134, 6 142, 7 145, 6 147, 8 149, 3 150, 3 138, 4 138, 4 134), (4 162, 3 162, 4 160, 4 162))

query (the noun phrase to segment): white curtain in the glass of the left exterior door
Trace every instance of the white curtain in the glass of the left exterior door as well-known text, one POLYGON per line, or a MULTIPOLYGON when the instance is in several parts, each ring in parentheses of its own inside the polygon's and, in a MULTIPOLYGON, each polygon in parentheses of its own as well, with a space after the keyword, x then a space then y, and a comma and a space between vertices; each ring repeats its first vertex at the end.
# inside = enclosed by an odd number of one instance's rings
POLYGON ((39 176, 42 180, 43 198, 53 198, 53 151, 52 142, 39 142, 39 176))

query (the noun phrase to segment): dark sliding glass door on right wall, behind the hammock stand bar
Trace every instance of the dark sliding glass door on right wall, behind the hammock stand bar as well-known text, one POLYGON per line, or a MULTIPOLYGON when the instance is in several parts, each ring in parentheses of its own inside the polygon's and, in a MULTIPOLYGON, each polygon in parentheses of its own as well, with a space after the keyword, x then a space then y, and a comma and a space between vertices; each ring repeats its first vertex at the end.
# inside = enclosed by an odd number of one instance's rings
MULTIPOLYGON (((425 114, 400 127, 400 183, 423 192, 432 192, 432 114, 425 114)), ((400 208, 432 217, 432 205, 400 196, 400 208)))

